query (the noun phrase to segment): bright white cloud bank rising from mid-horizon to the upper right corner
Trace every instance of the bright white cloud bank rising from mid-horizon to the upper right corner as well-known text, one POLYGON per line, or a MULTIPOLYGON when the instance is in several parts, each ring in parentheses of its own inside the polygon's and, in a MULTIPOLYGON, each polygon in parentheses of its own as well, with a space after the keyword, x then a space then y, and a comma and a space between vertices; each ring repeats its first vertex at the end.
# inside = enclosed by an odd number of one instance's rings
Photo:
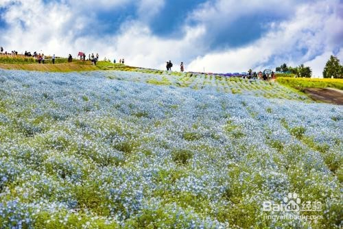
POLYGON ((323 58, 337 48, 333 38, 343 31, 340 27, 342 18, 331 13, 337 2, 318 1, 300 5, 294 18, 273 25, 274 29, 261 39, 246 47, 200 56, 191 62, 190 68, 199 71, 206 66, 207 71, 215 72, 247 71, 249 68, 259 71, 283 62, 292 66, 305 62, 313 69, 314 75, 322 75, 322 67, 327 61, 323 58), (331 30, 331 27, 335 29, 331 30), (320 57, 316 58, 318 53, 320 57))

